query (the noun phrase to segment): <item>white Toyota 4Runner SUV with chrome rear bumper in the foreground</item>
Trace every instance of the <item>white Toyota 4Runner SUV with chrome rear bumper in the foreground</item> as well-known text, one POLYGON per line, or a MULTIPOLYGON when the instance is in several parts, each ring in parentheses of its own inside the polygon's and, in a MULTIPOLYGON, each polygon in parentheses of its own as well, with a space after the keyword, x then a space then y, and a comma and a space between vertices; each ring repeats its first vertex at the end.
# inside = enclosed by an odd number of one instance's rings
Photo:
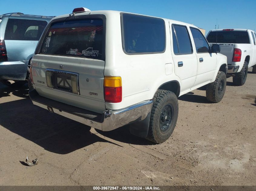
POLYGON ((201 86, 219 102, 227 57, 191 24, 77 8, 46 27, 32 60, 32 102, 102 131, 162 143, 178 118, 177 97, 201 86))

